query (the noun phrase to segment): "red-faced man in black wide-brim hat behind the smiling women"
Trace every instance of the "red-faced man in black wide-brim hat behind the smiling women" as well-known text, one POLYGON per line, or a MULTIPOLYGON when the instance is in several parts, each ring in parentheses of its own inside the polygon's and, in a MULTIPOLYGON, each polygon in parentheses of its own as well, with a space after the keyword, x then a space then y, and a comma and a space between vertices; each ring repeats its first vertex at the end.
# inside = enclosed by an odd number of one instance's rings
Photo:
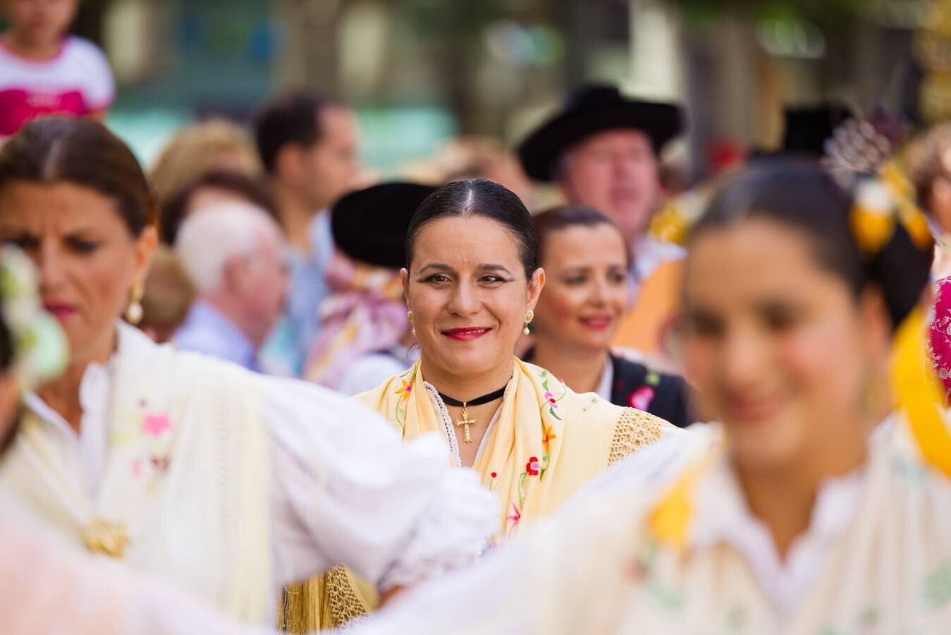
POLYGON ((553 181, 569 205, 609 215, 633 255, 632 290, 680 248, 650 239, 650 214, 661 202, 657 156, 683 127, 671 104, 628 99, 613 86, 575 90, 563 109, 518 148, 536 181, 553 181))

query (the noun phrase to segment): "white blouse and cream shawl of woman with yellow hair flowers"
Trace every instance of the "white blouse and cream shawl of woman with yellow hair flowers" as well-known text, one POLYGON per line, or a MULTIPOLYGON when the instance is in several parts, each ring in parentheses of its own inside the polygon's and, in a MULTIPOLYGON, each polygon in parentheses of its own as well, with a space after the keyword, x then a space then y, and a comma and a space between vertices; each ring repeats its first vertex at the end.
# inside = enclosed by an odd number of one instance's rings
POLYGON ((622 462, 557 518, 353 633, 949 633, 951 480, 902 425, 870 447, 863 467, 822 487, 786 562, 727 459, 694 489, 684 552, 650 537, 643 470, 622 462))

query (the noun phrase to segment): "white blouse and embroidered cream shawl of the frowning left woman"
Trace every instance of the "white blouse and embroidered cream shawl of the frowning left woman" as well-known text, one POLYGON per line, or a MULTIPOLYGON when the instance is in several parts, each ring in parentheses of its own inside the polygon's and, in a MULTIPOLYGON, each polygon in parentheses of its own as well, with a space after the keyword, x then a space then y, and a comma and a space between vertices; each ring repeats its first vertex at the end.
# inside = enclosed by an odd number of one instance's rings
POLYGON ((118 327, 81 387, 81 434, 35 395, 0 465, 0 505, 83 547, 123 526, 122 561, 249 622, 337 564, 386 590, 471 562, 497 501, 437 434, 404 444, 366 407, 158 347, 118 327))

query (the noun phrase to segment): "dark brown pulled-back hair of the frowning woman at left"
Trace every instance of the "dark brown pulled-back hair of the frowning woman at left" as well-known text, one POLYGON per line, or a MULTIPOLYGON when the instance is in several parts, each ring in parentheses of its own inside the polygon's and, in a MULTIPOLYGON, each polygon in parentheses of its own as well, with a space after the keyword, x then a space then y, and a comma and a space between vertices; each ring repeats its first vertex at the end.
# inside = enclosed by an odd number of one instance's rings
POLYGON ((129 234, 155 222, 156 203, 132 150, 90 119, 41 117, 0 149, 0 189, 15 181, 72 183, 113 199, 129 234))

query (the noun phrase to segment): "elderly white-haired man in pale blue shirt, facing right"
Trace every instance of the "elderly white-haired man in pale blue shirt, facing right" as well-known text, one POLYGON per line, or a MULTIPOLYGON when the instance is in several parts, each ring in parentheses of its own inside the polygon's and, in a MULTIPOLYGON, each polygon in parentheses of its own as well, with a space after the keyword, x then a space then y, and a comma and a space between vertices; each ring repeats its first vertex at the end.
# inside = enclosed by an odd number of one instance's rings
POLYGON ((175 252, 198 289, 175 344, 258 370, 287 292, 281 228, 261 208, 223 203, 185 220, 175 252))

